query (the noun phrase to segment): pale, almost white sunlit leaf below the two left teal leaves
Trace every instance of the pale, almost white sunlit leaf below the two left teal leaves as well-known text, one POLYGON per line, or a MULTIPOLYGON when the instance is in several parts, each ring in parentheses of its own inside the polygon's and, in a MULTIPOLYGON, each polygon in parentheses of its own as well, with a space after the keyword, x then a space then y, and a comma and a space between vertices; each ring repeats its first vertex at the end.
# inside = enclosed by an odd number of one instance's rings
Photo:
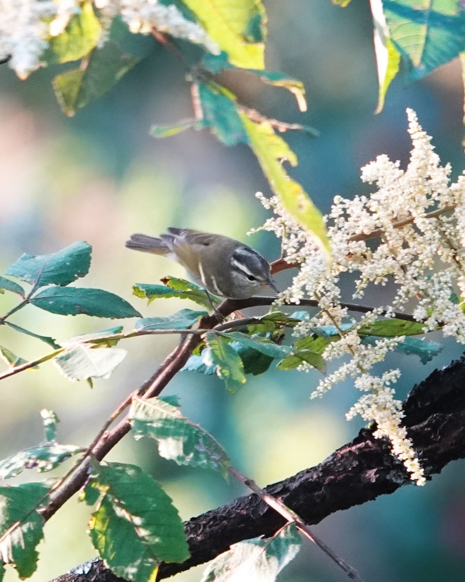
POLYGON ((54 362, 70 380, 110 377, 111 372, 126 357, 126 350, 119 347, 95 347, 76 343, 66 347, 54 362))

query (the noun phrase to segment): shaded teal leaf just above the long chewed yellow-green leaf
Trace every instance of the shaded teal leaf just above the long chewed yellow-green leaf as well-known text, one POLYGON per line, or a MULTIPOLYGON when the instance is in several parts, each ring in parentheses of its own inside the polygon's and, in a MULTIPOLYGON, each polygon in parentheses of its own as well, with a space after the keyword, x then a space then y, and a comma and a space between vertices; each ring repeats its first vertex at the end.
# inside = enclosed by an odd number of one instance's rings
POLYGON ((198 83, 203 126, 209 127, 225 145, 249 143, 249 136, 237 111, 235 96, 214 83, 198 83))

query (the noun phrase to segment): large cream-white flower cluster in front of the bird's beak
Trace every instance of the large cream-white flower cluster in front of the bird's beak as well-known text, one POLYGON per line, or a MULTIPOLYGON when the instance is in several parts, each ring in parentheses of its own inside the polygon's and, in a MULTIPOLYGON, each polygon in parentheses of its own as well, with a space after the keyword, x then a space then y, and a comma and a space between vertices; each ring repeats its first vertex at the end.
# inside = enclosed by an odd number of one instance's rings
MULTIPOLYGON (((320 312, 302 322, 294 333, 308 334, 332 324, 339 340, 326 347, 325 359, 350 356, 348 362, 321 380, 312 396, 321 396, 336 382, 353 378, 363 395, 347 418, 360 414, 367 421, 375 421, 375 436, 389 438, 393 454, 403 460, 411 478, 421 485, 425 481, 423 470, 402 427, 401 403, 392 389, 400 371, 371 373, 373 365, 384 360, 404 338, 364 343, 357 333, 361 325, 381 313, 387 311, 393 316, 394 309, 403 311, 408 302, 414 318, 424 323, 425 332, 440 328, 444 335, 465 343, 465 175, 450 183, 450 165, 441 166, 431 137, 418 125, 416 113, 408 109, 407 116, 413 143, 407 169, 380 155, 362 169, 361 175, 364 182, 376 184, 375 193, 354 200, 335 198, 326 218, 333 250, 330 267, 278 198, 257 196, 275 213, 262 229, 281 237, 285 260, 300 265, 279 301, 299 303, 303 297, 310 297, 320 306, 320 312), (362 297, 369 284, 392 281, 397 289, 395 300, 391 305, 377 306, 361 321, 350 320, 347 310, 340 306, 338 278, 343 272, 358 274, 354 297, 362 297)), ((301 366, 302 370, 307 368, 301 366)))

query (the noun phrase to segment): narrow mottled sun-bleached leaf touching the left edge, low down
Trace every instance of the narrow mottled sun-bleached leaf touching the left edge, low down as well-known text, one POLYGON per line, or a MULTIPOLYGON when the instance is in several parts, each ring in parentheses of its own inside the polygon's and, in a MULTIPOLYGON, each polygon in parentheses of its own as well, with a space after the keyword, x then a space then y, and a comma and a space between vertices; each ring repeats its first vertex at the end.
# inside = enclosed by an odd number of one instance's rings
POLYGON ((51 471, 81 450, 74 445, 57 443, 33 446, 0 461, 0 479, 16 477, 24 469, 37 469, 39 473, 51 471))

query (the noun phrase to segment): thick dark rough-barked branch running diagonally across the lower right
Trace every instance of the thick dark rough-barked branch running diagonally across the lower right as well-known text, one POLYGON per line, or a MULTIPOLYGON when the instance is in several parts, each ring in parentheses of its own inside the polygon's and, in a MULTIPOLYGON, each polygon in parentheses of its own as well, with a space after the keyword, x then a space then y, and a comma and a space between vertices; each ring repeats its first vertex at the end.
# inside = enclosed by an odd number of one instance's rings
MULTIPOLYGON (((452 460, 465 456, 465 358, 435 371, 414 387, 404 402, 409 429, 428 478, 452 460)), ((324 462, 269 485, 269 494, 282 499, 308 524, 329 514, 391 494, 410 484, 402 463, 393 459, 389 443, 360 431, 351 443, 324 462)), ((211 560, 231 544, 259 535, 272 535, 283 521, 256 495, 204 513, 186 523, 191 558, 182 564, 162 564, 159 579, 211 560)), ((101 560, 80 566, 54 582, 115 582, 101 560)))

